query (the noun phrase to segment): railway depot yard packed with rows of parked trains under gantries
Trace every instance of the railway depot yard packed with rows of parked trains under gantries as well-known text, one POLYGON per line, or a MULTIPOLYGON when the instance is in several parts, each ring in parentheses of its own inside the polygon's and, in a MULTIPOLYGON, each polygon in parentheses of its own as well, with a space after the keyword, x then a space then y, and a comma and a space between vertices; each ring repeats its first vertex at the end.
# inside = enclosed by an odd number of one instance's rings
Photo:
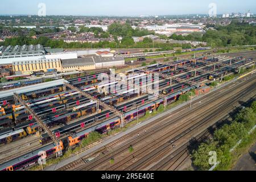
MULTIPOLYGON (((110 82, 102 83, 98 73, 0 91, 2 146, 26 140, 39 132, 39 125, 47 128, 40 129, 38 142, 41 146, 28 153, 17 153, 15 158, 6 156, 0 170, 24 169, 37 162, 39 151, 46 151, 47 157, 60 149, 65 152, 92 131, 107 133, 125 126, 147 111, 158 110, 160 105, 167 106, 179 100, 189 91, 203 92, 209 88, 210 82, 223 82, 226 76, 239 73, 241 68, 254 67, 254 57, 255 52, 236 57, 199 57, 135 68, 123 73, 125 79, 117 78, 113 82, 110 79, 110 82), (145 75, 159 76, 158 93, 152 92, 154 79, 145 75), (114 93, 110 92, 112 87, 114 93), (39 124, 35 117, 42 123, 39 124)), ((113 77, 110 72, 106 74, 113 77)))

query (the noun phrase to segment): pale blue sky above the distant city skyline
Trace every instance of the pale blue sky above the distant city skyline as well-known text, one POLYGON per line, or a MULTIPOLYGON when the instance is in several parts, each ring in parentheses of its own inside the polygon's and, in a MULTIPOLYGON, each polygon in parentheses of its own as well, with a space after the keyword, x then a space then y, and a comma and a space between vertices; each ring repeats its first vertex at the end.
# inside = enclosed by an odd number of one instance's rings
POLYGON ((45 3, 46 15, 181 15, 208 14, 216 3, 217 14, 256 13, 255 0, 6 0, 0 14, 37 15, 45 3))

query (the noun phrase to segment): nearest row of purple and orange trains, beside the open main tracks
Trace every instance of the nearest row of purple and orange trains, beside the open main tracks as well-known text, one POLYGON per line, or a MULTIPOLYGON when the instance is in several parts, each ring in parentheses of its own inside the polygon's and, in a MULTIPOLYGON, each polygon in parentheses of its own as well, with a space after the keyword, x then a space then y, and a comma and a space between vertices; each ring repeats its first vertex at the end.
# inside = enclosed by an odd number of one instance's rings
MULTIPOLYGON (((167 100, 168 102, 176 100, 177 97, 179 97, 181 92, 177 92, 175 94, 172 94, 171 96, 168 96, 167 100)), ((137 109, 131 110, 127 113, 125 113, 125 121, 129 122, 138 115, 143 115, 146 113, 147 110, 154 110, 157 109, 160 104, 163 104, 163 100, 159 99, 158 101, 153 101, 150 104, 146 104, 144 106, 139 107, 138 111, 137 109)), ((114 129, 115 127, 118 127, 121 125, 121 119, 119 117, 114 117, 112 119, 109 119, 108 121, 102 122, 96 126, 92 126, 89 129, 80 131, 79 133, 73 134, 67 138, 64 138, 60 142, 59 147, 61 150, 65 150, 64 146, 67 147, 72 147, 75 146, 76 144, 79 144, 82 139, 88 137, 88 135, 92 131, 97 131, 98 133, 106 133, 107 131, 114 129), (65 143, 65 144, 64 144, 65 143)), ((20 156, 18 158, 15 158, 13 160, 10 160, 7 163, 4 163, 0 166, 1 171, 15 171, 18 169, 23 169, 28 166, 31 166, 32 164, 35 164, 40 156, 46 156, 48 158, 49 156, 56 154, 57 148, 55 144, 48 144, 47 146, 44 146, 42 148, 39 148, 38 150, 29 152, 26 155, 20 156), (39 151, 45 151, 43 154, 39 154, 39 151)))

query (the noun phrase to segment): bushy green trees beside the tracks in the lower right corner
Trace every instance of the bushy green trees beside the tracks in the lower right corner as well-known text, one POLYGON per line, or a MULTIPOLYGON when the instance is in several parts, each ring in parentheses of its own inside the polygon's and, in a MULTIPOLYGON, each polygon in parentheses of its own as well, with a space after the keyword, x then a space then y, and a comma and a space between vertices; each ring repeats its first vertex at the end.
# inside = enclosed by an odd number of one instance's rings
POLYGON ((245 138, 253 126, 256 125, 256 101, 250 107, 242 109, 235 117, 234 121, 225 124, 213 134, 213 139, 200 144, 197 150, 192 152, 193 164, 199 170, 208 170, 212 167, 209 164, 209 152, 216 151, 218 167, 228 169, 232 163, 233 148, 238 140, 245 138))

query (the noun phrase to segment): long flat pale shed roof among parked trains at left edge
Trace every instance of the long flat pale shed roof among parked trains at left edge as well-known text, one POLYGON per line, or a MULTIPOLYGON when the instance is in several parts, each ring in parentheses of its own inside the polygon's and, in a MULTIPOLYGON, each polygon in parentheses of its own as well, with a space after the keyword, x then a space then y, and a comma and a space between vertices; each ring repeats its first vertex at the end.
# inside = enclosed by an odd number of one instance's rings
POLYGON ((21 93, 27 93, 27 92, 34 92, 40 89, 51 88, 53 86, 63 85, 64 83, 67 83, 67 82, 68 82, 67 80, 60 79, 60 80, 44 82, 36 85, 24 86, 21 88, 16 88, 11 90, 3 90, 0 92, 0 98, 13 96, 13 93, 21 94, 21 93))

